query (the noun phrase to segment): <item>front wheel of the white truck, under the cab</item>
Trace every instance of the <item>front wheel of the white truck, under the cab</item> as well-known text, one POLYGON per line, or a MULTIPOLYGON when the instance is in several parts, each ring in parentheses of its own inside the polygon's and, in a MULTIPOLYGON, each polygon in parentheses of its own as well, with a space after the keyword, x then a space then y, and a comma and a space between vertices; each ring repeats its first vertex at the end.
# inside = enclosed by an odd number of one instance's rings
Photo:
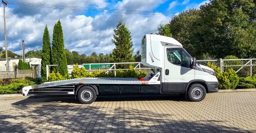
POLYGON ((195 83, 189 87, 188 97, 193 102, 202 101, 206 96, 205 87, 202 84, 195 83))

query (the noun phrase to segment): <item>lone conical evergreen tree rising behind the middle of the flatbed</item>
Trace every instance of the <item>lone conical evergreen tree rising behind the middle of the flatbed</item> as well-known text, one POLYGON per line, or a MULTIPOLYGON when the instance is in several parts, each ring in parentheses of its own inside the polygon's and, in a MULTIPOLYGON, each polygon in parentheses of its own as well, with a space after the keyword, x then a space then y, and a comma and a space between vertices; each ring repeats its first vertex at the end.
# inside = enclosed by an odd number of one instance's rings
MULTIPOLYGON (((134 62, 133 57, 133 42, 131 37, 131 32, 127 28, 126 24, 120 19, 117 23, 116 29, 114 29, 115 34, 112 42, 115 43, 116 48, 113 50, 113 61, 114 62, 134 62)), ((124 68, 122 65, 119 68, 124 68)))

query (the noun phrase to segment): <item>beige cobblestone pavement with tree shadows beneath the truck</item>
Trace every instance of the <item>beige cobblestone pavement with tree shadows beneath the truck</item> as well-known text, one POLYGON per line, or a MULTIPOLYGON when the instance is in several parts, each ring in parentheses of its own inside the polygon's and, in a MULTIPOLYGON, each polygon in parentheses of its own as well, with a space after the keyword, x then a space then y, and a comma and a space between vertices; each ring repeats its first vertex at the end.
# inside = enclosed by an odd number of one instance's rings
POLYGON ((256 92, 0 98, 0 132, 256 132, 256 92))

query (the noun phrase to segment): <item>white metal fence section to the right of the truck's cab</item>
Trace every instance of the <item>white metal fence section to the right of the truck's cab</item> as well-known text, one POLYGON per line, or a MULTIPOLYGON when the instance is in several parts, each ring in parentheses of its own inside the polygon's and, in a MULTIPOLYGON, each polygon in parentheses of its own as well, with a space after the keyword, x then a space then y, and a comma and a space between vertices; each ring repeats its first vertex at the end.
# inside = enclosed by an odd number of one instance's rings
POLYGON ((256 58, 253 59, 216 59, 216 60, 198 60, 198 63, 206 65, 207 62, 219 66, 221 72, 232 68, 240 77, 253 76, 256 74, 256 58))

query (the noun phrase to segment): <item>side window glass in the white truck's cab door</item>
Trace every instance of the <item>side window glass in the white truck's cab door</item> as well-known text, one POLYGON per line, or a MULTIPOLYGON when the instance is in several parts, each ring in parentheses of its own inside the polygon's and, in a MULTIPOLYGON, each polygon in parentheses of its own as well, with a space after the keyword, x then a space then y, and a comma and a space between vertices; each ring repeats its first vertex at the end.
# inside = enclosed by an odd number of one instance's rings
POLYGON ((181 65, 181 52, 177 49, 167 49, 167 59, 170 63, 181 65))

